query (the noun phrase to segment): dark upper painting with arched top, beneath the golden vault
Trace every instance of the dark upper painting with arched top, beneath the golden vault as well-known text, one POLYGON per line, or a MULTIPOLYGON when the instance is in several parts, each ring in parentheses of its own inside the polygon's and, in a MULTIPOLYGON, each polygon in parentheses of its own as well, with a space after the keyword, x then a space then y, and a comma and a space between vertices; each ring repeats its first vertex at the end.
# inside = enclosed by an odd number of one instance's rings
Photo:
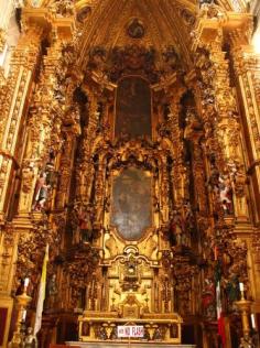
POLYGON ((119 81, 116 102, 116 138, 151 138, 151 90, 140 77, 119 81))

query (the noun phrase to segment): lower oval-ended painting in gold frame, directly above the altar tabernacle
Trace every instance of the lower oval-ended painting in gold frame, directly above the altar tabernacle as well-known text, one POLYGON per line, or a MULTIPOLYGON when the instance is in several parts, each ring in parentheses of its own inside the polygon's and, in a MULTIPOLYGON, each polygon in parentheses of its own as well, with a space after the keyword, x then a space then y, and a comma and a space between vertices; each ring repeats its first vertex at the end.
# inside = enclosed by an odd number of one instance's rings
POLYGON ((111 225, 123 239, 138 240, 152 225, 151 188, 150 173, 136 167, 113 178, 111 225))

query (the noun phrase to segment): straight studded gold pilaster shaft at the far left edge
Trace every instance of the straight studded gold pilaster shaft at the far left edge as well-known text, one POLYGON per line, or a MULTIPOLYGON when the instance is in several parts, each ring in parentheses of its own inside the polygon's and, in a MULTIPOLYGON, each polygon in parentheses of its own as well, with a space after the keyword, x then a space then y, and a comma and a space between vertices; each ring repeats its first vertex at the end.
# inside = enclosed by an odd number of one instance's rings
MULTIPOLYGON (((24 120, 26 106, 26 95, 29 94, 32 76, 36 66, 36 59, 40 52, 40 41, 42 29, 31 28, 28 34, 21 37, 19 45, 13 54, 11 62, 11 74, 7 79, 7 85, 1 93, 8 93, 4 97, 3 117, 1 121, 1 168, 2 178, 0 192, 0 215, 3 215, 7 205, 7 192, 9 186, 10 173, 13 165, 20 165, 18 155, 18 134, 24 120), (29 35, 29 36, 26 36, 29 35), (28 47, 26 39, 30 37, 28 47)), ((2 98, 3 98, 2 97, 2 98)))

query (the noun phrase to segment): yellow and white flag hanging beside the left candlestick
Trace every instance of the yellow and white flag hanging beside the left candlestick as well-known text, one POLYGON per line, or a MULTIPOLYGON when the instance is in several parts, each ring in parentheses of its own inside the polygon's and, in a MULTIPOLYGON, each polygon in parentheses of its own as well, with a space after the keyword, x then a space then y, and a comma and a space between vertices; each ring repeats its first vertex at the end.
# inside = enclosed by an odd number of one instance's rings
POLYGON ((39 287, 35 324, 34 324, 34 330, 33 330, 34 335, 36 335, 40 331, 41 326, 42 326, 43 303, 45 300, 45 291, 46 291, 47 261, 48 261, 48 244, 46 244, 46 249, 45 249, 41 282, 40 282, 40 287, 39 287))

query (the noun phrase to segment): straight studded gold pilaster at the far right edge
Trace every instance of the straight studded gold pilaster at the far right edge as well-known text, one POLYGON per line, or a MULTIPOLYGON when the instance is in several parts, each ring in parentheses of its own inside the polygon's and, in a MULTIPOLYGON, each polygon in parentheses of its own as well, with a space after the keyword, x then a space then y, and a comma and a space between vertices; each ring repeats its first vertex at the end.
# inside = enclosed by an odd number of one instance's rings
MULTIPOLYGON (((245 137, 249 138, 245 142, 248 150, 247 164, 250 175, 250 184, 253 191, 260 193, 260 108, 259 108, 259 56, 249 45, 251 37, 252 22, 248 20, 245 23, 243 18, 239 19, 239 28, 229 33, 231 44, 231 59, 236 77, 239 96, 241 97, 241 111, 245 122, 245 137)), ((254 195, 254 205, 257 208, 256 219, 260 219, 260 205, 258 195, 254 195)))

